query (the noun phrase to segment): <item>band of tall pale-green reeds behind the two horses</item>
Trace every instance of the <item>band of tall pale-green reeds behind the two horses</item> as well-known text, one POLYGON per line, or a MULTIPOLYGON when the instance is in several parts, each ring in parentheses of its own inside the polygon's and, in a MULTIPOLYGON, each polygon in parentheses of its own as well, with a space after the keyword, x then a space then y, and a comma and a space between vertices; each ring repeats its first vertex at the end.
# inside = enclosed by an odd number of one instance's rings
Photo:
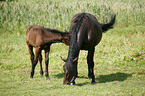
POLYGON ((0 33, 23 34, 29 25, 60 30, 69 29, 71 18, 79 12, 94 14, 101 23, 116 14, 116 27, 145 25, 143 0, 36 0, 0 2, 0 33))

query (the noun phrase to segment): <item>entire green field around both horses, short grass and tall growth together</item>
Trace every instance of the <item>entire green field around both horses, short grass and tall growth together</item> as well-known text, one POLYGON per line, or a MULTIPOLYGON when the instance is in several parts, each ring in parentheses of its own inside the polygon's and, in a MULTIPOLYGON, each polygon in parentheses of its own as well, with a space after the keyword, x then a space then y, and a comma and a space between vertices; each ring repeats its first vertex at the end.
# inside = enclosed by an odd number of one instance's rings
MULTIPOLYGON (((44 52, 43 52, 44 53, 44 52)), ((45 71, 44 56, 43 69, 45 71)), ((0 96, 144 96, 145 1, 144 0, 1 0, 0 1, 0 96), (103 34, 95 49, 96 84, 87 77, 86 51, 78 61, 76 85, 63 85, 68 46, 51 46, 50 80, 31 62, 25 43, 29 25, 69 30, 71 18, 89 12, 101 23, 116 14, 113 29, 103 34)))

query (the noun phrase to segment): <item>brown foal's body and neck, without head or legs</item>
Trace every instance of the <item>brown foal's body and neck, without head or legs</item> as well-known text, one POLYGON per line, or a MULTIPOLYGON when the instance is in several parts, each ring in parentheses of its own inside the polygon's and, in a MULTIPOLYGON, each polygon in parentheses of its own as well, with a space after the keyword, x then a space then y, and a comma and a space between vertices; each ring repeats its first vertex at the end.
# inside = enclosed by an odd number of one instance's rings
POLYGON ((54 40, 61 38, 58 32, 51 32, 51 29, 31 25, 27 29, 26 42, 33 47, 43 46, 47 43, 53 43, 54 40))

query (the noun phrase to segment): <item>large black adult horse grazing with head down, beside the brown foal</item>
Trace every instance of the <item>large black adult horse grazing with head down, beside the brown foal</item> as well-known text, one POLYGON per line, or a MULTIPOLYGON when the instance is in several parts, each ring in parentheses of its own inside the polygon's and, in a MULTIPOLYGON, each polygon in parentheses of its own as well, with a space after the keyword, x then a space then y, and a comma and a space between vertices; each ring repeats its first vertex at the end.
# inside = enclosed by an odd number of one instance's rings
POLYGON ((95 16, 89 13, 78 13, 71 20, 70 26, 70 46, 67 59, 61 57, 65 61, 64 65, 64 81, 63 84, 75 84, 77 77, 77 61, 80 50, 87 50, 88 77, 92 83, 95 83, 94 76, 94 52, 95 46, 102 38, 102 32, 113 28, 115 16, 107 24, 100 24, 95 16))

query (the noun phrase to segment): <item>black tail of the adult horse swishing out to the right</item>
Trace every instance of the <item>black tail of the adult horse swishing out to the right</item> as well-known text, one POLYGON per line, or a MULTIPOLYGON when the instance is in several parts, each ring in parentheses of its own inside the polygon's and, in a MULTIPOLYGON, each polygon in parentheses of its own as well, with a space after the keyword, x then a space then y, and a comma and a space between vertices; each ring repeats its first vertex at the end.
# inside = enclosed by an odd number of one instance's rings
POLYGON ((116 15, 114 15, 114 17, 113 16, 111 17, 111 20, 110 20, 109 23, 107 23, 107 24, 101 24, 101 28, 102 28, 102 32, 103 33, 108 31, 109 29, 113 28, 113 25, 115 23, 115 18, 116 18, 116 15))

